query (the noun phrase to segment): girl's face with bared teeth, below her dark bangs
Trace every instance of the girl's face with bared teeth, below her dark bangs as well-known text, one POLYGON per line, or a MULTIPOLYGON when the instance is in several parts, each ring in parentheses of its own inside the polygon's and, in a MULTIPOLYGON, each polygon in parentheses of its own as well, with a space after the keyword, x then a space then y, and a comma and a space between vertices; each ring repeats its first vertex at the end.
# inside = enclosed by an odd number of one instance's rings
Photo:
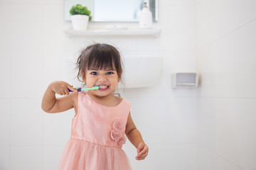
POLYGON ((88 88, 100 86, 98 90, 91 90, 90 94, 97 97, 105 97, 112 94, 117 88, 120 79, 115 69, 86 70, 83 81, 88 88))

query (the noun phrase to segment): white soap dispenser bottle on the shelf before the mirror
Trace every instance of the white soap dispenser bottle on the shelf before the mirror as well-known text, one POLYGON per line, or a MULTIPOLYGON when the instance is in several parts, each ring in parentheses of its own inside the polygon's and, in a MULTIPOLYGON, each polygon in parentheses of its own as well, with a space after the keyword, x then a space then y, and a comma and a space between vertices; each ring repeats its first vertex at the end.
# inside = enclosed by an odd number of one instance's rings
POLYGON ((139 28, 147 29, 152 28, 153 20, 152 20, 152 13, 149 11, 149 8, 146 6, 146 2, 142 8, 142 12, 139 16, 139 28))

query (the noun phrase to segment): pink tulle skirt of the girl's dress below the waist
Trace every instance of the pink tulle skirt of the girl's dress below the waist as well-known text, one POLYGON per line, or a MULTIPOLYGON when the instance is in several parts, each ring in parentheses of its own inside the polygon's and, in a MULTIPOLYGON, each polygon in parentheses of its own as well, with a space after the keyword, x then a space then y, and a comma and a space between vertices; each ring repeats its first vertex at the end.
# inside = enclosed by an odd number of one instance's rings
POLYGON ((122 149, 70 139, 65 146, 59 170, 130 170, 129 159, 122 149))

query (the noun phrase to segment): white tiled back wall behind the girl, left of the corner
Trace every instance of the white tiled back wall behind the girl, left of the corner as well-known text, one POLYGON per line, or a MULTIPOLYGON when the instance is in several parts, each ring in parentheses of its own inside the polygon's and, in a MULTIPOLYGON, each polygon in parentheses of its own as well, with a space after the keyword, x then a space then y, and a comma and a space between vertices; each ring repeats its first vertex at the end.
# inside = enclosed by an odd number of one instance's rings
POLYGON ((129 142, 124 146, 133 169, 198 169, 198 91, 170 86, 171 72, 196 70, 196 1, 159 1, 154 24, 162 29, 159 38, 68 38, 63 30, 71 24, 63 20, 63 0, 0 0, 0 21, 0 169, 57 168, 74 111, 44 113, 41 98, 51 81, 80 85, 73 57, 93 41, 116 46, 124 57, 164 57, 155 86, 120 91, 132 103, 132 118, 149 145, 141 162, 129 142))

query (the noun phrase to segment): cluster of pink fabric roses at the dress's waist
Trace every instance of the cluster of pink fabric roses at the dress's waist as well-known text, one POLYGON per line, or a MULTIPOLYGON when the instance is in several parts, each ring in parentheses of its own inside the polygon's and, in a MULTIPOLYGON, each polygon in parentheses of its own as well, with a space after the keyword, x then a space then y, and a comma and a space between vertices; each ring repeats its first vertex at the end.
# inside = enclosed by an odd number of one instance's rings
POLYGON ((122 120, 115 120, 112 126, 113 130, 111 130, 111 139, 116 141, 118 145, 123 145, 126 142, 126 137, 124 137, 124 123, 122 120))

